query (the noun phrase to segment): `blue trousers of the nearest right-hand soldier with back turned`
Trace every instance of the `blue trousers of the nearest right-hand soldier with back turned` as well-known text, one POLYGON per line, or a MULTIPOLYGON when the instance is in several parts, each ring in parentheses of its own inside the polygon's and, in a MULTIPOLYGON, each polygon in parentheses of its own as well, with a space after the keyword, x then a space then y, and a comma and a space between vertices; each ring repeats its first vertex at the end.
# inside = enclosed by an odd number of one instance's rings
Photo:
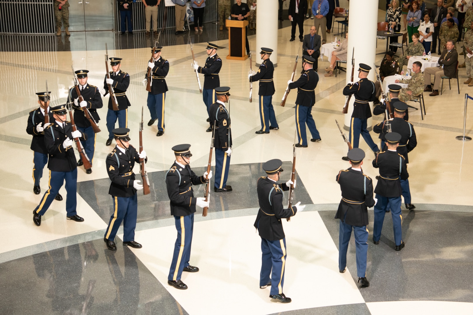
POLYGON ((366 277, 366 261, 368 259, 368 228, 366 225, 354 226, 340 220, 340 233, 338 236, 338 269, 347 266, 347 250, 350 242, 351 230, 355 235, 356 244, 356 270, 358 277, 366 277))

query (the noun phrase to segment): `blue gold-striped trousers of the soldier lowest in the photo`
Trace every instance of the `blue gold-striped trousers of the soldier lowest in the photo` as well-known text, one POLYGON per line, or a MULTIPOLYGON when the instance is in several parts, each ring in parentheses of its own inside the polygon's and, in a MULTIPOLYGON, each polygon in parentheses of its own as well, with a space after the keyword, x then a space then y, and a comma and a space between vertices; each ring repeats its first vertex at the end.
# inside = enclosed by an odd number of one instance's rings
POLYGON ((260 286, 269 283, 271 274, 271 295, 281 294, 284 286, 284 268, 286 266, 286 238, 270 241, 261 238, 260 286))

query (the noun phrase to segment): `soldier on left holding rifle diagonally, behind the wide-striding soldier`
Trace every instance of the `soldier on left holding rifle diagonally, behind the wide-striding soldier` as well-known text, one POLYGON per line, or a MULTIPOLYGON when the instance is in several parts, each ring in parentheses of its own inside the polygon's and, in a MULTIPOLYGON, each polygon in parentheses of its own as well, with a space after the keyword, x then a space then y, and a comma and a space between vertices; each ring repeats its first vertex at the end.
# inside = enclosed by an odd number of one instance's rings
MULTIPOLYGON (((72 106, 74 108, 74 122, 78 130, 87 134, 87 141, 82 141, 82 146, 84 147, 85 153, 90 160, 90 164, 92 164, 94 161, 96 134, 90 125, 90 121, 84 114, 84 108, 88 108, 92 119, 94 119, 95 123, 97 124, 100 120, 97 109, 102 108, 104 105, 102 103, 102 97, 100 96, 98 87, 87 83, 88 70, 77 70, 75 73, 77 75, 77 80, 79 81, 79 92, 84 101, 79 102, 76 88, 72 87, 70 89, 70 95, 74 100, 74 105, 72 106)), ((81 166, 82 164, 82 160, 79 159, 77 166, 81 166)), ((86 170, 86 173, 92 173, 92 169, 86 170)))

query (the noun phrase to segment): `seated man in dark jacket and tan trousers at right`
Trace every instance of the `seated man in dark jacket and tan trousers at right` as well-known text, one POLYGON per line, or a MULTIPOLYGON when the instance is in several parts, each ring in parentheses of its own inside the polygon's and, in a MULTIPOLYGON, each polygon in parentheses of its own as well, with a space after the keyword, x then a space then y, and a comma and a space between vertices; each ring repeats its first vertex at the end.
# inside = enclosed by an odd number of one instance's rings
POLYGON ((431 67, 424 70, 425 84, 427 85, 424 92, 432 92, 429 94, 430 96, 437 96, 438 86, 442 81, 442 77, 455 77, 457 61, 458 52, 456 52, 455 44, 452 40, 448 40, 447 49, 444 49, 438 59, 440 67, 431 67), (430 75, 435 75, 433 88, 430 86, 430 75))

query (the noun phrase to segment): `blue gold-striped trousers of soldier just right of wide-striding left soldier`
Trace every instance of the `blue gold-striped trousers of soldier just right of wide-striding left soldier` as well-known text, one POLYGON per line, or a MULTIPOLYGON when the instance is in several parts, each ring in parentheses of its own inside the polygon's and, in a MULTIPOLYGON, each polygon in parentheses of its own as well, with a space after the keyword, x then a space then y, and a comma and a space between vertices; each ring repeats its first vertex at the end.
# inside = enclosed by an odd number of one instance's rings
POLYGON ((136 213, 138 210, 138 195, 131 197, 115 197, 114 213, 110 216, 108 228, 105 230, 105 238, 114 240, 118 228, 123 221, 123 242, 135 240, 136 213))

